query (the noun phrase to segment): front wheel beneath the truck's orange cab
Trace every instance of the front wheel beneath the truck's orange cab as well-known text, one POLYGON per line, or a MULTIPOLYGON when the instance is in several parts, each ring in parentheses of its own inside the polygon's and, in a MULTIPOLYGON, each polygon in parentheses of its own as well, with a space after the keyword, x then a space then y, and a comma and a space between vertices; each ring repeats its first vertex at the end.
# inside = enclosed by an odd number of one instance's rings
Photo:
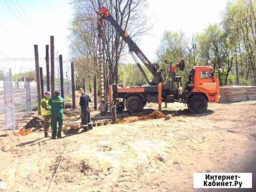
POLYGON ((191 96, 187 102, 187 108, 192 113, 201 113, 204 112, 208 107, 208 102, 204 96, 194 95, 191 96))

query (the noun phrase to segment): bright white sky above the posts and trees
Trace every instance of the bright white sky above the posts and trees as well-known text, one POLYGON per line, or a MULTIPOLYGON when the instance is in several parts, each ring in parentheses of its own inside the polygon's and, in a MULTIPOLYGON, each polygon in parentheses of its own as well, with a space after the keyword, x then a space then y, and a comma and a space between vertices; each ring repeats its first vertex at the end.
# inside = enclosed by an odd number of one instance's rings
MULTIPOLYGON (((187 37, 200 33, 208 25, 219 23, 220 13, 228 0, 148 0, 146 15, 153 29, 141 37, 140 49, 154 62, 155 51, 165 30, 182 31, 187 37)), ((45 57, 45 45, 50 36, 55 39, 55 51, 63 54, 69 65, 69 27, 73 7, 70 0, 0 0, 0 59, 34 58, 33 45, 38 45, 39 58, 45 57)), ((56 56, 56 53, 55 53, 56 56)), ((132 61, 131 58, 127 58, 132 61)), ((16 73, 34 69, 31 62, 0 62, 0 69, 11 68, 16 73)), ((44 68, 45 62, 40 61, 44 68)), ((65 72, 65 69, 64 69, 65 72)))

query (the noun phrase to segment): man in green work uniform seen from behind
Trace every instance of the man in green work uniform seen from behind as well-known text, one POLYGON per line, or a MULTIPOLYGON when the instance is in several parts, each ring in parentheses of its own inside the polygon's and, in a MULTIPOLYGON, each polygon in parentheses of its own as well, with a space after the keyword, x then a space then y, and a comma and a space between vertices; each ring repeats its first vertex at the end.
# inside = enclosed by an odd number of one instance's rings
POLYGON ((52 138, 56 139, 57 123, 59 124, 57 138, 61 138, 62 124, 63 124, 63 112, 64 112, 64 99, 59 96, 60 91, 56 90, 54 96, 49 99, 49 105, 51 106, 51 127, 52 138))

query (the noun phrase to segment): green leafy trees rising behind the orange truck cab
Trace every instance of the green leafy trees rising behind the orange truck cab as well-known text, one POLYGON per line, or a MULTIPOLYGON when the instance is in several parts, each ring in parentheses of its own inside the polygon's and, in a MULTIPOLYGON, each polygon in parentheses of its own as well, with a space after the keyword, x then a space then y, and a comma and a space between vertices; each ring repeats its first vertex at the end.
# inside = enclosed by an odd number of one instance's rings
POLYGON ((157 55, 162 68, 165 59, 174 64, 184 58, 186 69, 176 75, 185 80, 193 66, 203 64, 213 67, 220 85, 256 85, 256 0, 228 3, 220 24, 190 40, 182 32, 165 31, 157 55))

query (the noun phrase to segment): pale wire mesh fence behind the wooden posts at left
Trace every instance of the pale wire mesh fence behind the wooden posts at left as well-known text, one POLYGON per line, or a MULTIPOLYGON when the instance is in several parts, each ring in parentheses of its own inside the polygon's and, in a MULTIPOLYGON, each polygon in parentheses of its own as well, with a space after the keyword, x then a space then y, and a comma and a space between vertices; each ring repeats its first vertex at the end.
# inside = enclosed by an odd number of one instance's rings
MULTIPOLYGON (((15 130, 16 120, 27 119, 27 115, 37 110, 37 83, 26 77, 12 80, 11 70, 1 71, 0 80, 0 130, 15 130)), ((57 86, 58 87, 58 86, 57 86)), ((58 89, 56 87, 56 89, 58 89)), ((44 91, 46 91, 44 82, 44 91)), ((70 80, 64 80, 64 97, 72 94, 70 80)))

